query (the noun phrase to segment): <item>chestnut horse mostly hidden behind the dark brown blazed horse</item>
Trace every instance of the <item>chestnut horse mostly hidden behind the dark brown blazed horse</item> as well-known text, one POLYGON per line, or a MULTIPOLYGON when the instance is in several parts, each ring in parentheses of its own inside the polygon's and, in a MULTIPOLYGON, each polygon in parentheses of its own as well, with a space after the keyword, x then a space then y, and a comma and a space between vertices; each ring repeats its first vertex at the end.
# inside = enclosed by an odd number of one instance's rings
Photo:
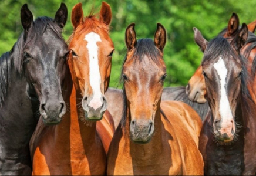
MULTIPOLYGON (((238 27, 239 27, 239 18, 236 13, 233 13, 231 15, 230 20, 228 21, 228 27, 223 29, 223 31, 221 31, 218 35, 224 36, 225 38, 232 38, 238 32, 238 27)), ((256 38, 255 38, 255 35, 253 34, 255 32, 255 28, 256 28, 256 21, 251 22, 248 25, 248 29, 251 32, 249 33, 245 46, 241 50, 241 54, 250 60, 249 62, 250 64, 248 65, 249 70, 251 70, 251 67, 250 67, 251 63, 253 62, 254 57, 256 56, 256 38)), ((254 65, 255 64, 256 63, 254 63, 254 65)), ((254 68, 255 67, 252 67, 253 72, 255 72, 254 68)), ((203 70, 200 65, 197 68, 194 75, 190 78, 186 86, 186 94, 188 96, 188 99, 198 103, 206 103, 207 101, 206 86, 204 83, 204 76, 202 75, 202 71, 203 70)))

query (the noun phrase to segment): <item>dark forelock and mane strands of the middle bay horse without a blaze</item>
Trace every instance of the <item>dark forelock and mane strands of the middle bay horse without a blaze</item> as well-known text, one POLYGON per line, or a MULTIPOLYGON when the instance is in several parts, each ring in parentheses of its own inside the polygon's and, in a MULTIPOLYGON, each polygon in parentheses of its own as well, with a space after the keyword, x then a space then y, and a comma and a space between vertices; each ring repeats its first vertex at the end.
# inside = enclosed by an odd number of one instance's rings
MULTIPOLYGON (((134 59, 134 65, 137 62, 143 62, 144 60, 144 56, 146 55, 150 60, 152 60, 154 63, 158 63, 159 62, 159 57, 160 57, 160 51, 156 48, 156 45, 154 45, 154 42, 152 39, 139 39, 137 40, 136 45, 134 46, 134 52, 132 55, 132 58, 134 59)), ((127 60, 127 54, 124 57, 124 63, 127 60)), ((123 69, 122 69, 122 73, 123 73, 123 69)), ((120 80, 122 80, 122 75, 120 77, 120 80)), ((127 115, 127 104, 126 104, 126 92, 123 86, 123 116, 122 119, 120 121, 120 123, 122 124, 122 127, 124 127, 125 123, 126 123, 126 115, 127 115)))

